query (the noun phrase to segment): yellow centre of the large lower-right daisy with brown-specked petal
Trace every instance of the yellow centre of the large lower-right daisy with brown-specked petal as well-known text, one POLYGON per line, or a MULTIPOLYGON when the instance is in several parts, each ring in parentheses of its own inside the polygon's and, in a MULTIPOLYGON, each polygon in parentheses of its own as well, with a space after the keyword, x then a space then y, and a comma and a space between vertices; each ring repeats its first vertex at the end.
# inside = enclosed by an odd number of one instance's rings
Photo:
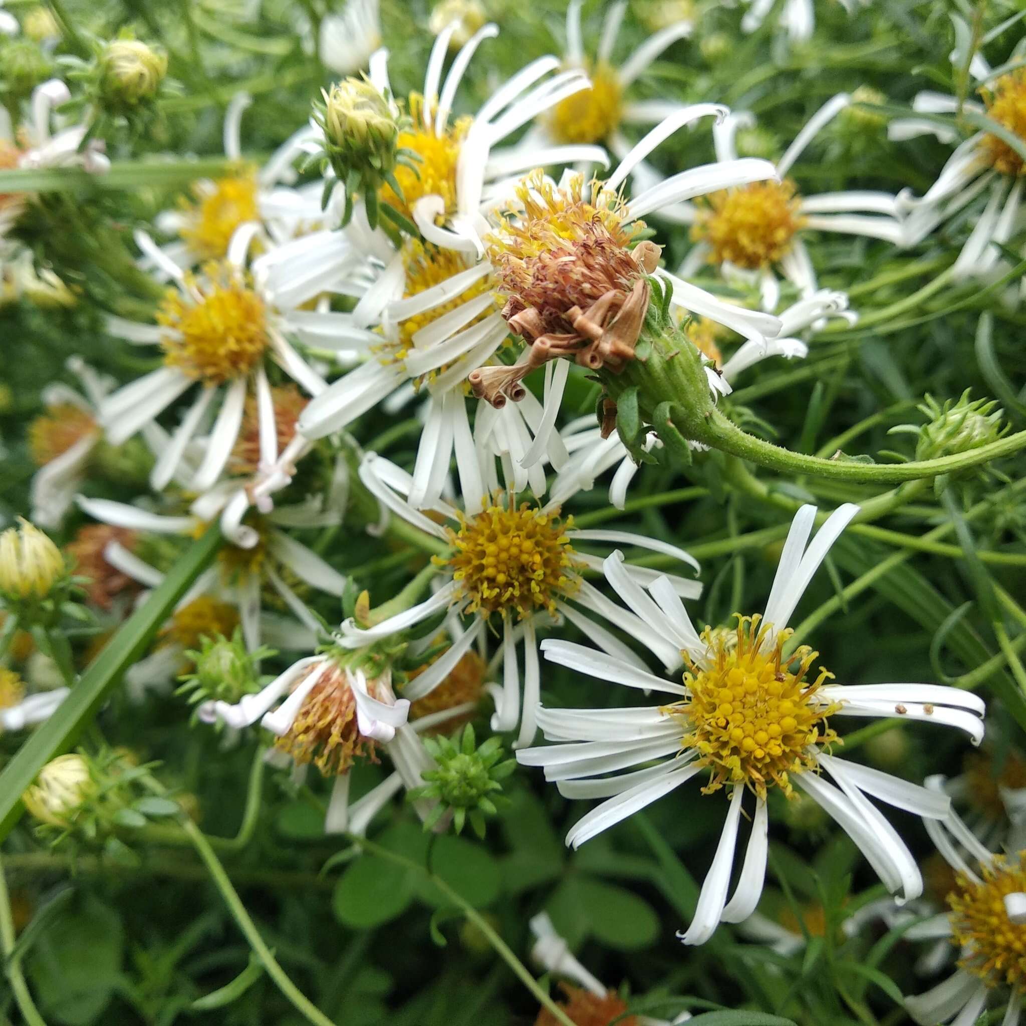
POLYGON ((771 643, 771 625, 736 616, 734 632, 705 629, 709 656, 684 674, 690 697, 664 711, 685 732, 682 747, 697 750, 712 770, 704 793, 733 784, 764 798, 776 784, 790 796, 788 774, 814 770, 817 747, 838 740, 826 718, 839 706, 817 696, 833 675, 821 668, 806 681, 819 653, 801 645, 785 660, 782 649, 793 631, 781 631, 771 643))

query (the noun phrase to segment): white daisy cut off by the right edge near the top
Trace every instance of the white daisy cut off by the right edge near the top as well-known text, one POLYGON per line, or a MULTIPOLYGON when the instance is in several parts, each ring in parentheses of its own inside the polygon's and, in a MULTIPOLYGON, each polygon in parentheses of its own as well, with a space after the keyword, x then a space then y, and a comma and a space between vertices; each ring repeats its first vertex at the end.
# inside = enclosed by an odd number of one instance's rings
MULTIPOLYGON (((996 26, 980 40, 981 47, 999 36, 1018 15, 996 26)), ((965 64, 972 32, 964 21, 952 15, 955 28, 955 49, 951 60, 955 68, 965 64)), ((1014 70, 1001 73, 992 69, 981 49, 974 53, 970 77, 983 103, 940 92, 918 93, 912 109, 924 115, 956 115, 961 110, 986 115, 1013 134, 1026 117, 1026 74, 1016 68, 1026 42, 1013 50, 1008 65, 1014 70)), ((1003 67, 1007 67, 1002 66, 1003 67)), ((1008 270, 997 244, 1007 243, 1018 227, 1023 192, 1023 158, 1004 140, 987 131, 978 131, 961 140, 954 118, 950 123, 934 118, 896 118, 887 125, 891 140, 910 140, 933 134, 944 143, 958 143, 948 162, 941 169, 937 181, 921 197, 913 197, 906 190, 898 199, 907 213, 907 231, 911 241, 919 242, 945 222, 963 210, 977 197, 985 197, 982 212, 974 220, 958 259, 954 273, 958 278, 997 278, 1008 270), (959 142, 960 141, 960 142, 959 142)))

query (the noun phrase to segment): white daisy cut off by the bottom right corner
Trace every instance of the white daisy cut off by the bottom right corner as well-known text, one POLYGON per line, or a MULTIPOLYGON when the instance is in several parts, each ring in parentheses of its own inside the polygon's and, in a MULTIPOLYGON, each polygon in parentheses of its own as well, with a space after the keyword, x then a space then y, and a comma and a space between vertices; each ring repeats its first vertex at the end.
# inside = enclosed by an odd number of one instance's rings
MULTIPOLYGON (((925 783, 944 793, 943 777, 925 783)), ((973 1026, 996 992, 998 1007, 1008 1001, 1001 1026, 1018 1026, 1026 991, 1026 852, 994 855, 954 812, 925 825, 955 871, 955 886, 948 910, 915 924, 905 938, 950 941, 958 969, 925 993, 907 997, 905 1007, 922 1026, 973 1026)))

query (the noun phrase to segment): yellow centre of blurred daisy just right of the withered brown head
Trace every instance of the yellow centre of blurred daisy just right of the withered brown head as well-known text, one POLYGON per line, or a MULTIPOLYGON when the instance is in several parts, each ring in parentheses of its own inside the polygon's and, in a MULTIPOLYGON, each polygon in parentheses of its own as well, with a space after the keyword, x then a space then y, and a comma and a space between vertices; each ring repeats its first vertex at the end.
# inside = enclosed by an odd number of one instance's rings
POLYGON ((692 229, 696 241, 707 242, 714 264, 724 261, 755 271, 780 261, 804 224, 801 197, 792 182, 753 182, 708 197, 692 229))

